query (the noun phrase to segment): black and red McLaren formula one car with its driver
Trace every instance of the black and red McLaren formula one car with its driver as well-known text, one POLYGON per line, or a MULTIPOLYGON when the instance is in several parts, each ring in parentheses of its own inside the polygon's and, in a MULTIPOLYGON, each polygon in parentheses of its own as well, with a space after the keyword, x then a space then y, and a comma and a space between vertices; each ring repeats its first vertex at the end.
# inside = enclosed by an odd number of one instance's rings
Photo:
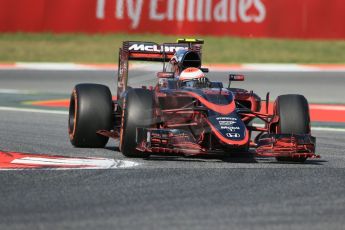
POLYGON ((119 139, 119 149, 127 157, 248 151, 278 161, 304 162, 317 157, 304 96, 279 96, 269 114, 269 94, 261 100, 252 91, 230 88, 232 81, 243 81, 243 75, 230 74, 228 87, 206 77, 202 44, 198 39, 161 45, 123 42, 116 100, 104 85, 78 84, 73 89, 68 125, 71 143, 99 148, 109 138, 119 139), (127 84, 132 60, 163 63, 155 86, 132 88, 127 84), (264 125, 254 125, 254 119, 264 125))

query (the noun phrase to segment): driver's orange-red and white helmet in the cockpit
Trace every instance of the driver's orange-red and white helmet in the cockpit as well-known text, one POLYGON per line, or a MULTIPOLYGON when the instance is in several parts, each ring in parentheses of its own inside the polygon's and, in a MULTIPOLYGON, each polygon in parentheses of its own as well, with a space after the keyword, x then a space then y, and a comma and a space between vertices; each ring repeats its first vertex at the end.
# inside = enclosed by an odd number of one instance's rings
POLYGON ((198 68, 189 67, 183 70, 178 78, 181 87, 207 88, 210 81, 198 68))

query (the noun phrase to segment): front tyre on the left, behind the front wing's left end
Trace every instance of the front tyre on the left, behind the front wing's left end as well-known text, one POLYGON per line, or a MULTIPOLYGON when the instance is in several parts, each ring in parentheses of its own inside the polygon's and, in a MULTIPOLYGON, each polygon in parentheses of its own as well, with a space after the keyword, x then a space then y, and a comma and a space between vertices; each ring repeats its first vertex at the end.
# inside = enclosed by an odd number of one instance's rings
POLYGON ((129 89, 122 110, 120 150, 126 157, 147 157, 136 150, 137 128, 149 128, 153 124, 153 93, 146 89, 129 89))

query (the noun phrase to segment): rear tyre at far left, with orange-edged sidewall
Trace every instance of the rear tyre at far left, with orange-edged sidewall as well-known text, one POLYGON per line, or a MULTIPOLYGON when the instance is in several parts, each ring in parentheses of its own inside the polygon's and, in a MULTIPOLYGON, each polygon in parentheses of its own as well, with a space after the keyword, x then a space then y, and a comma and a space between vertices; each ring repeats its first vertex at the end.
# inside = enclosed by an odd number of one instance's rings
POLYGON ((78 84, 71 95, 68 132, 75 147, 103 148, 109 138, 99 130, 112 129, 112 96, 109 88, 99 84, 78 84))

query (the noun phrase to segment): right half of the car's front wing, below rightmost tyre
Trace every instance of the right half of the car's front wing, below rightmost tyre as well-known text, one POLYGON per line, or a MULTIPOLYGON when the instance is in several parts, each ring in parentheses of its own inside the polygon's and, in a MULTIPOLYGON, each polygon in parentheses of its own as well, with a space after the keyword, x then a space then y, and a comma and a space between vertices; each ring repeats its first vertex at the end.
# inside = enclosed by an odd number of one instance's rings
POLYGON ((309 134, 267 134, 257 142, 256 154, 267 157, 320 158, 316 138, 309 134))

